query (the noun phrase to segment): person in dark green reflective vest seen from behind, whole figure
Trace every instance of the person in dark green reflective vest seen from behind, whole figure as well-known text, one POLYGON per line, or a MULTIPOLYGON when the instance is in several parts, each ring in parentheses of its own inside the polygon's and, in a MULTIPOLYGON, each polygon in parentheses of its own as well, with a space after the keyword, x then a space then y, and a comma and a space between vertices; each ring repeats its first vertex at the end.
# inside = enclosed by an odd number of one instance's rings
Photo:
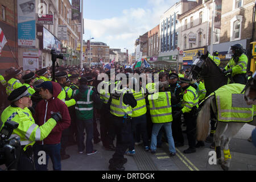
POLYGON ((90 89, 87 79, 81 77, 79 89, 73 91, 72 98, 76 100, 76 117, 77 117, 77 145, 79 153, 84 152, 84 129, 86 131, 86 155, 96 154, 98 151, 93 149, 93 108, 95 105, 101 105, 100 96, 90 89))

